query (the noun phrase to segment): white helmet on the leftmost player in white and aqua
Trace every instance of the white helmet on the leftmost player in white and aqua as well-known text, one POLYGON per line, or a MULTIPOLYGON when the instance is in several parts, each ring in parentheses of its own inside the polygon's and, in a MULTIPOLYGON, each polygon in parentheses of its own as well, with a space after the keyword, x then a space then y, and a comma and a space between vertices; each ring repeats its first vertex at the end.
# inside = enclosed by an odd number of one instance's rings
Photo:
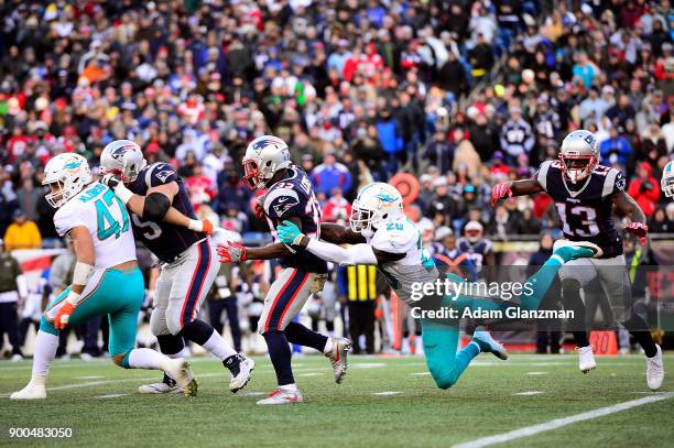
POLYGON ((61 208, 91 182, 94 177, 85 157, 74 153, 58 154, 44 167, 42 185, 51 188, 44 197, 52 207, 61 208))

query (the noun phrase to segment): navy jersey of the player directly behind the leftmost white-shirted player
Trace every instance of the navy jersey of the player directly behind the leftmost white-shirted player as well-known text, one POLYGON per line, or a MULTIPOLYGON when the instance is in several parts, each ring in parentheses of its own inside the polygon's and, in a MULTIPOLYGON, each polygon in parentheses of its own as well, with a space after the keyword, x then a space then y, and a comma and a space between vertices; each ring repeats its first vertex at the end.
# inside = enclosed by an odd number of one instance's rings
MULTIPOLYGON (((176 210, 191 219, 197 219, 189 200, 187 187, 176 173, 175 168, 166 163, 157 162, 145 166, 127 187, 137 195, 145 196, 150 187, 176 182, 178 192, 171 204, 176 210)), ((206 238, 205 233, 194 232, 181 226, 167 222, 154 222, 143 220, 135 214, 131 214, 133 234, 141 240, 150 251, 162 262, 168 262, 183 253, 195 242, 206 238)))

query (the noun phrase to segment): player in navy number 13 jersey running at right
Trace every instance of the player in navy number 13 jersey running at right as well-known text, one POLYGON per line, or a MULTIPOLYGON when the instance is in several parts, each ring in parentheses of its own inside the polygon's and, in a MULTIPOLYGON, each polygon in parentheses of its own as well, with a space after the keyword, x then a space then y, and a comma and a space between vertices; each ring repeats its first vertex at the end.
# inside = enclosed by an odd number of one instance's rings
POLYGON ((491 204, 503 198, 545 192, 555 201, 564 237, 570 241, 590 241, 600 247, 599 259, 579 259, 559 271, 565 306, 574 308, 574 337, 578 346, 578 367, 586 373, 597 367, 593 348, 585 331, 585 307, 580 288, 599 277, 604 292, 617 318, 639 341, 646 356, 646 382, 656 390, 662 384, 664 369, 662 351, 653 341, 648 324, 633 312, 622 240, 613 226, 613 206, 631 222, 626 230, 646 242, 645 216, 626 192, 626 178, 616 168, 599 165, 595 135, 586 130, 569 133, 562 142, 559 157, 541 164, 533 178, 502 183, 493 187, 491 204))

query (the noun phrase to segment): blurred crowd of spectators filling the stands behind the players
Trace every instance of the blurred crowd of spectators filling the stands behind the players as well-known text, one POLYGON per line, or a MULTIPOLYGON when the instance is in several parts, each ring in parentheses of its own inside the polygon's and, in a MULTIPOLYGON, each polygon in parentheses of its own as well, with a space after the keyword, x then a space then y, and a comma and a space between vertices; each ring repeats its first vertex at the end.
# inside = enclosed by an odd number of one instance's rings
POLYGON ((326 221, 360 185, 409 174, 431 243, 468 221, 492 240, 554 233, 546 195, 492 209, 490 187, 589 129, 651 232, 674 231, 667 0, 0 0, 0 17, 7 251, 62 245, 45 162, 77 152, 96 171, 117 139, 178 167, 202 217, 264 241, 239 163, 262 133, 289 143, 326 221))

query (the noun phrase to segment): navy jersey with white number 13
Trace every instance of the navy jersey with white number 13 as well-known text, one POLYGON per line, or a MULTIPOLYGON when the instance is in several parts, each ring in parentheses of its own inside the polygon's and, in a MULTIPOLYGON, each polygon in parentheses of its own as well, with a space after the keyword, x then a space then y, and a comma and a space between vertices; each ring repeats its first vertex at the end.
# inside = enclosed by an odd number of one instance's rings
POLYGON ((611 216, 612 195, 626 187, 620 171, 597 165, 588 178, 574 184, 564 179, 562 162, 547 161, 534 178, 555 201, 564 238, 599 245, 602 258, 622 253, 622 240, 611 216))

